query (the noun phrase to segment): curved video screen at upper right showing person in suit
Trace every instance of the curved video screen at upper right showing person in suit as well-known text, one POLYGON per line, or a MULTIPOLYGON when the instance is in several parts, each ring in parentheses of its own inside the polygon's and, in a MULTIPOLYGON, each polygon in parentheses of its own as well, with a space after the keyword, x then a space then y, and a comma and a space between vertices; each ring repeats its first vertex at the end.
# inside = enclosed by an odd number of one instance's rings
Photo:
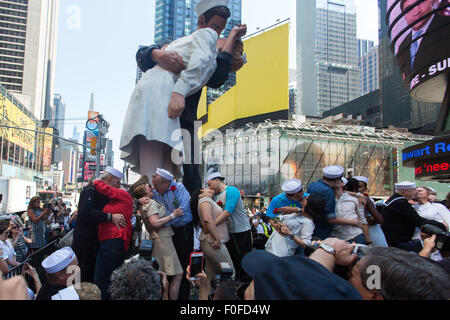
POLYGON ((450 0, 388 0, 386 22, 405 86, 416 100, 441 103, 450 72, 450 0))

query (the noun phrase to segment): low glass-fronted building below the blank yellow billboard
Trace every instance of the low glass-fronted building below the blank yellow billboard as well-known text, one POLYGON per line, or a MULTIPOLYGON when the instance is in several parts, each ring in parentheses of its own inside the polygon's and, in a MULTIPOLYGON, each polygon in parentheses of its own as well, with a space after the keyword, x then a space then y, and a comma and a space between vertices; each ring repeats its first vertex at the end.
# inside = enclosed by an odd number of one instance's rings
POLYGON ((222 139, 203 139, 203 172, 218 170, 246 195, 273 198, 289 179, 302 180, 306 189, 322 178, 325 166, 340 165, 369 177, 369 194, 386 198, 401 178, 398 154, 404 145, 426 139, 364 126, 266 121, 222 139))

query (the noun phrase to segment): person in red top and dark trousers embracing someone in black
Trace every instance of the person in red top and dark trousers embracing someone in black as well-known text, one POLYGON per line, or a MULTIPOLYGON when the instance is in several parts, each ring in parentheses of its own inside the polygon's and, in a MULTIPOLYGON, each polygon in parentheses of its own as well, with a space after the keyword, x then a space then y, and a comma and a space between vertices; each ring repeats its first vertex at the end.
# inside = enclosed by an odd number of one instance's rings
POLYGON ((94 181, 94 187, 97 192, 109 199, 103 212, 121 213, 127 222, 125 228, 119 228, 112 222, 100 223, 98 227, 100 246, 95 264, 94 283, 99 287, 102 299, 110 300, 111 274, 123 264, 125 253, 130 245, 133 199, 127 191, 111 187, 102 180, 94 181))

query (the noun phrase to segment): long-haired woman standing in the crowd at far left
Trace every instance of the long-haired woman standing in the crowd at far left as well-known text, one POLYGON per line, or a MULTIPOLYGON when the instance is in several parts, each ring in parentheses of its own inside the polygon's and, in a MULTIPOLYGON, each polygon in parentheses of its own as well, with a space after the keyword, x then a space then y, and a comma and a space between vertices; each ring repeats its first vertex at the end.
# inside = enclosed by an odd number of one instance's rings
POLYGON ((31 228, 33 232, 33 242, 31 243, 31 252, 36 252, 40 248, 44 247, 45 241, 45 230, 47 224, 47 215, 41 208, 41 198, 33 197, 28 205, 28 217, 31 221, 31 228))

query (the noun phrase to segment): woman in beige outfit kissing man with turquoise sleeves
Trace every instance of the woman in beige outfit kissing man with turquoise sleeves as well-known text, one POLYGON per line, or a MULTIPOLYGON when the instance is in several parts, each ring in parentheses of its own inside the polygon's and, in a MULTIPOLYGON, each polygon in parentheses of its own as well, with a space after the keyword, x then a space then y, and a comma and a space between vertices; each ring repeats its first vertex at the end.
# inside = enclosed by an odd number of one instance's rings
POLYGON ((229 241, 227 223, 215 224, 215 219, 223 212, 223 209, 212 200, 214 191, 210 189, 199 189, 191 195, 191 212, 194 226, 201 227, 200 250, 205 253, 205 273, 208 279, 212 279, 221 271, 221 263, 228 263, 235 269, 230 253, 225 246, 229 241))

